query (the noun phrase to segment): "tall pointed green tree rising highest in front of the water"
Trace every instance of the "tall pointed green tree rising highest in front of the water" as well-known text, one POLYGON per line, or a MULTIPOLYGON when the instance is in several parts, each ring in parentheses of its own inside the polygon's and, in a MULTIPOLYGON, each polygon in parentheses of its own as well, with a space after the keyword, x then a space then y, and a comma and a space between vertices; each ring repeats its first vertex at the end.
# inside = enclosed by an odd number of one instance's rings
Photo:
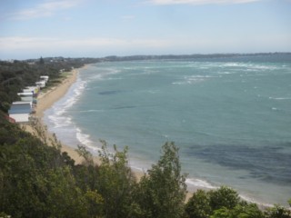
POLYGON ((139 183, 137 202, 143 217, 181 217, 186 197, 186 174, 181 174, 178 148, 166 143, 158 163, 139 183))

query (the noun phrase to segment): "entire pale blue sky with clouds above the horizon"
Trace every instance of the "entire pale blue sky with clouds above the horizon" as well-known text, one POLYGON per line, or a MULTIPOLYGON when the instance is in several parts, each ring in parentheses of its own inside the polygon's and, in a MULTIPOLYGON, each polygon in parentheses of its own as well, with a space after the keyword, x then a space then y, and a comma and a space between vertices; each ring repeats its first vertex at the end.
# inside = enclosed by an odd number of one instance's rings
POLYGON ((0 0, 0 59, 291 52, 291 0, 0 0))

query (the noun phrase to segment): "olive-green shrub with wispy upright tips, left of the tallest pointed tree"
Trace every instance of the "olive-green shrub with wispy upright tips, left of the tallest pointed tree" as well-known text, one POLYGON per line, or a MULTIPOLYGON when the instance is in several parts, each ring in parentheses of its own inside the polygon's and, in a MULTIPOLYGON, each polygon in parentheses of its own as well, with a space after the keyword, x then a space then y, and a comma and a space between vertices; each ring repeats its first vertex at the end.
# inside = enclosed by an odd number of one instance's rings
POLYGON ((135 203, 133 190, 135 176, 128 166, 127 147, 120 152, 114 146, 114 153, 107 150, 105 141, 99 152, 101 163, 97 169, 96 189, 104 200, 104 216, 133 217, 135 203))

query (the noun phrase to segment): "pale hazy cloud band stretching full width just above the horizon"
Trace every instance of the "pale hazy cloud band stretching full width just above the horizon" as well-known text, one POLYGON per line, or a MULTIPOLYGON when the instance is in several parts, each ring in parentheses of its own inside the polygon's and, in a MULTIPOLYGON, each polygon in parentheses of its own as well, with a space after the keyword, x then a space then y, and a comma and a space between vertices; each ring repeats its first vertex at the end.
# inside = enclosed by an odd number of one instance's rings
POLYGON ((290 51, 290 35, 244 38, 85 38, 0 37, 0 59, 39 56, 106 56, 132 54, 254 53, 290 51))

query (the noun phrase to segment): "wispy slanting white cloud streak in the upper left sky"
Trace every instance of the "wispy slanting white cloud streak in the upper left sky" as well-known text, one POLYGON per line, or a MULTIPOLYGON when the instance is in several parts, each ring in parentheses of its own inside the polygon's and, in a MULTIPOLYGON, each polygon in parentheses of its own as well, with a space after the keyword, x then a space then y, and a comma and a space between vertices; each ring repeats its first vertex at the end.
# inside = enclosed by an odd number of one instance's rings
POLYGON ((65 10, 79 5, 82 0, 53 0, 43 4, 35 5, 33 8, 24 9, 10 15, 15 20, 34 19, 45 16, 55 15, 57 11, 65 10))

